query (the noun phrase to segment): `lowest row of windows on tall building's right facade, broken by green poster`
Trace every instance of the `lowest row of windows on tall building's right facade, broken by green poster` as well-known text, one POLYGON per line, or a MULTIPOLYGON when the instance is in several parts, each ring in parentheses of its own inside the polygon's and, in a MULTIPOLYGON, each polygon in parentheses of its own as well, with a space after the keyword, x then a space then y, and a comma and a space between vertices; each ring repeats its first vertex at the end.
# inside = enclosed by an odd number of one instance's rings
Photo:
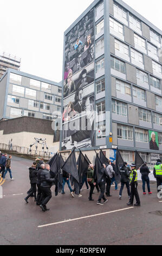
MULTIPOLYGON (((126 125, 117 125, 118 139, 126 139, 133 141, 133 127, 126 125)), ((162 133, 159 133, 159 144, 162 144, 162 133)), ((135 141, 136 142, 149 142, 148 131, 144 129, 135 128, 135 141)))

